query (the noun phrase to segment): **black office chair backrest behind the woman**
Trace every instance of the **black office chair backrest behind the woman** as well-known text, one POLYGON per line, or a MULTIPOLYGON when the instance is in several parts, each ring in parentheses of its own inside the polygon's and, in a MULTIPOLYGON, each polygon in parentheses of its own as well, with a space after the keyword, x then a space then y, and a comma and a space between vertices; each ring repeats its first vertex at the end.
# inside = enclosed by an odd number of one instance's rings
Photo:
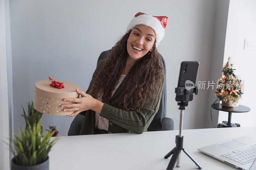
MULTIPOLYGON (((98 62, 100 60, 106 59, 108 58, 110 54, 110 49, 107 51, 103 51, 99 58, 98 58, 98 62)), ((166 116, 166 69, 165 69, 165 61, 163 56, 158 53, 161 57, 161 61, 162 61, 162 66, 164 69, 164 87, 163 87, 163 93, 162 93, 162 98, 160 101, 160 106, 159 109, 155 115, 155 117, 153 118, 152 122, 150 123, 149 127, 148 127, 148 131, 161 131, 161 125, 162 125, 162 119, 166 116)))

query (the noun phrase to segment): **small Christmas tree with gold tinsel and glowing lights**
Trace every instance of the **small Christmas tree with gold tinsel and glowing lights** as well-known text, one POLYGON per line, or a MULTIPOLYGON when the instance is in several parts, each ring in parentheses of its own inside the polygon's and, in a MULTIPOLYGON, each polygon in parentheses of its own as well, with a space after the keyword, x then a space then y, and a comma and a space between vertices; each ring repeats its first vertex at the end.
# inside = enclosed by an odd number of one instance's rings
POLYGON ((221 69, 222 77, 217 81, 215 97, 222 101, 222 106, 237 107, 238 100, 243 94, 243 81, 239 79, 233 72, 233 64, 231 57, 228 57, 228 62, 221 69))

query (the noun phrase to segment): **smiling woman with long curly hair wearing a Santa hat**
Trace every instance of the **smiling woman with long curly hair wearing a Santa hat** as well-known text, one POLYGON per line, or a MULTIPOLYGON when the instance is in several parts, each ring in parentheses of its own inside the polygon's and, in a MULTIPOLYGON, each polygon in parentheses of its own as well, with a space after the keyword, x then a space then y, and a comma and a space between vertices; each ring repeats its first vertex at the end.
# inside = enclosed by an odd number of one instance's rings
MULTIPOLYGON (((63 111, 84 115, 79 135, 143 133, 158 111, 164 85, 156 46, 164 37, 168 18, 137 13, 126 34, 100 60, 81 98, 64 99, 63 111)), ((49 77, 51 80, 55 79, 49 77)))

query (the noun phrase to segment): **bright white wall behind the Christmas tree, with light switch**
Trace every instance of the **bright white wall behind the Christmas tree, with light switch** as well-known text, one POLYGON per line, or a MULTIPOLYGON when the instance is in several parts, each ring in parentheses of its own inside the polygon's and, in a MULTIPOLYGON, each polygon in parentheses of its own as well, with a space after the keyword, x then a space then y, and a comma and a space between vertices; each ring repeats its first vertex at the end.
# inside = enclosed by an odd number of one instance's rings
MULTIPOLYGON (((235 74, 244 80, 244 94, 240 104, 250 107, 247 113, 233 113, 232 123, 241 126, 256 126, 255 107, 255 63, 256 50, 245 50, 245 39, 256 39, 256 1, 255 0, 231 0, 228 11, 228 24, 224 51, 223 64, 232 57, 235 74)), ((220 112, 219 121, 228 121, 228 113, 220 112)))

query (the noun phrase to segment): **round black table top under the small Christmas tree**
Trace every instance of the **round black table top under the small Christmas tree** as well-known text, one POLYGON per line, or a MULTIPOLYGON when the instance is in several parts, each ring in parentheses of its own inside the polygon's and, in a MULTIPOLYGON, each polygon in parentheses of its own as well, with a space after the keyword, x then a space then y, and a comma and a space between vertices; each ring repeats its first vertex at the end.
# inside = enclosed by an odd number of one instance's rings
POLYGON ((249 107, 239 105, 237 107, 224 107, 221 106, 220 103, 212 104, 212 108, 224 112, 232 112, 232 113, 244 113, 244 112, 250 112, 251 109, 249 107))

